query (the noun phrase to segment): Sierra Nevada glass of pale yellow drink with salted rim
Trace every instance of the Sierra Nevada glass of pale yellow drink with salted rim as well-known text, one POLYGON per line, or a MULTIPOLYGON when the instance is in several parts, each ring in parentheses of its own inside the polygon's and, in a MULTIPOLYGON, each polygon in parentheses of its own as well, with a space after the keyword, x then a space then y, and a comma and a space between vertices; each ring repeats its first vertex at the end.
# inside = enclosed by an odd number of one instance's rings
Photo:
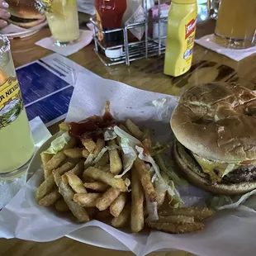
POLYGON ((10 42, 0 35, 0 179, 26 170, 35 146, 12 62, 10 42))

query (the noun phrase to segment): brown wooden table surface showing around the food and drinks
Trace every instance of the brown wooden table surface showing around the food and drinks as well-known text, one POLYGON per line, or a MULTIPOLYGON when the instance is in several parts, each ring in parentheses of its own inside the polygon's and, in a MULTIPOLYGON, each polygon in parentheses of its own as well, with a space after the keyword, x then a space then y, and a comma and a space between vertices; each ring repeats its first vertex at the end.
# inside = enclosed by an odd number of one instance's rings
MULTIPOLYGON (((197 35, 202 36, 214 28, 213 21, 201 23, 197 26, 197 35)), ((12 56, 16 67, 27 64, 33 60, 50 55, 50 50, 36 46, 35 42, 50 36, 49 29, 45 28, 29 38, 12 41, 12 56)), ((102 76, 130 84, 135 88, 141 88, 152 92, 162 92, 179 95, 187 88, 197 83, 209 83, 212 81, 238 82, 242 85, 256 89, 256 55, 250 56, 239 62, 218 55, 211 50, 195 45, 192 69, 179 78, 165 76, 164 55, 158 58, 142 59, 135 61, 126 67, 120 64, 113 67, 105 67, 93 51, 93 45, 88 45, 78 53, 69 57, 86 69, 102 76)), ((50 127, 55 133, 56 126, 50 127)), ((50 243, 35 243, 18 239, 0 239, 0 255, 2 256, 51 256, 51 255, 132 255, 129 252, 99 249, 88 244, 81 244, 68 238, 58 239, 50 243)), ((159 256, 185 256, 192 255, 185 252, 154 253, 159 256)))

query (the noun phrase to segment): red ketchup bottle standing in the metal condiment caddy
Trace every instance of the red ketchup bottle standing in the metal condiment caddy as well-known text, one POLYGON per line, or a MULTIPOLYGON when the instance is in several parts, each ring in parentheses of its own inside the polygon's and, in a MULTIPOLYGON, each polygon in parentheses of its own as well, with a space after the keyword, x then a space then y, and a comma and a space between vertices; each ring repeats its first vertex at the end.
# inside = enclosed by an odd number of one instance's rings
MULTIPOLYGON (((97 23, 102 31, 108 31, 115 28, 121 28, 121 20, 126 12, 126 0, 95 0, 97 11, 97 23)), ((111 33, 98 33, 98 39, 104 40, 106 46, 115 46, 123 44, 123 32, 116 31, 111 33)), ((122 49, 106 50, 105 54, 109 58, 120 57, 122 49)))

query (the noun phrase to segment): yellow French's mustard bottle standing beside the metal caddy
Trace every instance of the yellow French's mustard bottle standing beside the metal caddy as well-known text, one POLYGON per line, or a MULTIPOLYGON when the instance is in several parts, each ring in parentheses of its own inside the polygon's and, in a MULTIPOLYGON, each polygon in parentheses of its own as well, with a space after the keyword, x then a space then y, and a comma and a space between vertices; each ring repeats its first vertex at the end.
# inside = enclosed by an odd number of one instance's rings
POLYGON ((197 0, 173 0, 168 12, 164 73, 178 77, 192 64, 197 0))

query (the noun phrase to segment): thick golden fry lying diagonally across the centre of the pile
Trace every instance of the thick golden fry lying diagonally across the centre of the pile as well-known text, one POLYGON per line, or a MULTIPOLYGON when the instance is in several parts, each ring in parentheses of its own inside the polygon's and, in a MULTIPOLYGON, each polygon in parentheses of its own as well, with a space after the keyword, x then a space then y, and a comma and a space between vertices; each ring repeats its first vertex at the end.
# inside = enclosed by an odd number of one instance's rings
POLYGON ((121 192, 126 192, 126 183, 121 178, 115 178, 112 173, 105 173, 98 168, 89 167, 83 172, 83 176, 107 183, 109 186, 115 187, 121 192))

